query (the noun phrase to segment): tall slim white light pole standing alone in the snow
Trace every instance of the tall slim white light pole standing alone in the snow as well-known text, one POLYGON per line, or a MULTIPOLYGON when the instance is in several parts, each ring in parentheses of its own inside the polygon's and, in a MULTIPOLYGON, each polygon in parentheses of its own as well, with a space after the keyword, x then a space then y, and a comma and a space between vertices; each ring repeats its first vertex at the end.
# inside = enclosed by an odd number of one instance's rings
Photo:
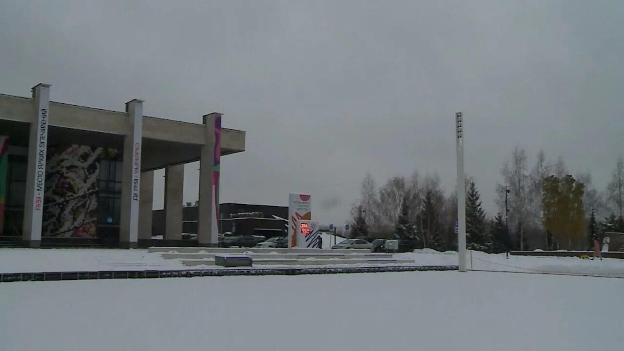
POLYGON ((464 175, 464 118, 455 114, 457 133, 457 250, 459 272, 466 272, 466 176, 464 175))

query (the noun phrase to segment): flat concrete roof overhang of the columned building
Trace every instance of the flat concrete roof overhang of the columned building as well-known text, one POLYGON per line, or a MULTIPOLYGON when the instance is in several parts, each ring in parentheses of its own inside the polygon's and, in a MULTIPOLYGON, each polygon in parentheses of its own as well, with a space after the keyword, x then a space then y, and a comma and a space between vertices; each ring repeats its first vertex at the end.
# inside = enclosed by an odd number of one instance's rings
MULTIPOLYGON (((122 149, 130 134, 129 117, 122 111, 50 102, 48 144, 122 149)), ((34 99, 0 94, 0 131, 9 145, 27 147, 29 126, 36 118, 34 99)), ((143 117, 141 171, 199 161, 206 143, 205 125, 143 117)), ((222 156, 245 151, 245 131, 222 128, 222 156)))

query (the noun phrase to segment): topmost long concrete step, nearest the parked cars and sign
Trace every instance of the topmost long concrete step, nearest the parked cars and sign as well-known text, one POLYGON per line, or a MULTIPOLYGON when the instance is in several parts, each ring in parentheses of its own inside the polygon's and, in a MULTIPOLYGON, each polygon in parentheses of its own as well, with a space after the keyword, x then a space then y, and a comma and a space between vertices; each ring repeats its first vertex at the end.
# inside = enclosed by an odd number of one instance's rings
POLYGON ((195 254, 199 252, 207 254, 242 254, 244 252, 253 252, 254 254, 269 254, 275 252, 276 254, 366 254, 370 253, 368 249, 304 249, 301 247, 293 247, 292 249, 273 249, 273 248, 258 248, 258 247, 149 247, 148 252, 179 252, 181 254, 195 254))

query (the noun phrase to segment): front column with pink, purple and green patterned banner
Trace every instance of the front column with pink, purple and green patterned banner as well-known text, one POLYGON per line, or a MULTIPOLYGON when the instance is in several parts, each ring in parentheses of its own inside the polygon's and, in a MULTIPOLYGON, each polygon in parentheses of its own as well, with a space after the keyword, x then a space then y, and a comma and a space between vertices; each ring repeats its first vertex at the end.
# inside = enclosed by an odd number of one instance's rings
POLYGON ((206 144, 202 146, 199 175, 197 240, 199 245, 218 245, 218 194, 221 158, 222 114, 203 116, 206 144))

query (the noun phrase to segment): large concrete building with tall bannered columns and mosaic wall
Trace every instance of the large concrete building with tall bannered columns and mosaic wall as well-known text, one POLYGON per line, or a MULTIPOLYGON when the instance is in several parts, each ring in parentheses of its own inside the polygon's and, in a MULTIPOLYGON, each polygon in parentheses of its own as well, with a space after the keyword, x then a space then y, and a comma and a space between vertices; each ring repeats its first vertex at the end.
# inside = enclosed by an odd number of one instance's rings
POLYGON ((165 231, 181 239, 183 165, 200 161, 198 245, 217 245, 220 156, 245 132, 143 116, 143 101, 107 111, 0 94, 0 240, 6 244, 137 247, 152 234, 154 173, 165 169, 165 231), (212 215, 210 215, 212 214, 212 215))

